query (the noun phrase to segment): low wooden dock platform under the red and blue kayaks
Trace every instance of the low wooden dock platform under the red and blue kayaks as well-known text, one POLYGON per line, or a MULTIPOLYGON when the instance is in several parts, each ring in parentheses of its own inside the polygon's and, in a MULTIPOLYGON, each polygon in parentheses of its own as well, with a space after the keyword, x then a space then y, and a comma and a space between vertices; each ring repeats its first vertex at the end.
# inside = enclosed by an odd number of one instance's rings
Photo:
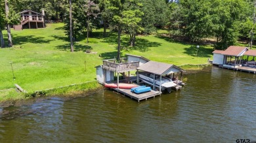
POLYGON ((147 100, 148 98, 151 98, 151 97, 156 97, 157 95, 161 95, 160 91, 154 91, 154 90, 137 94, 137 93, 131 92, 131 89, 117 89, 117 88, 112 88, 112 89, 116 90, 118 93, 122 93, 125 96, 131 97, 131 99, 135 99, 138 102, 144 99, 147 100))

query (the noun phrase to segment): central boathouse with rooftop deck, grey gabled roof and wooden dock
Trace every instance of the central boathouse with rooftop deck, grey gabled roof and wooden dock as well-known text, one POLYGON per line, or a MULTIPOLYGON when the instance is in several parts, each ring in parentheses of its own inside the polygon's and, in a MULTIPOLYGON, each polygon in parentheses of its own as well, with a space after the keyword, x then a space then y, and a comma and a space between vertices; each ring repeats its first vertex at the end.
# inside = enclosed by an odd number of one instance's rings
MULTIPOLYGON (((184 70, 175 65, 150 61, 149 59, 146 59, 142 56, 135 56, 131 54, 126 54, 126 56, 126 58, 121 58, 121 62, 117 62, 116 59, 104 59, 103 65, 99 65, 96 67, 96 80, 98 81, 98 83, 103 84, 105 86, 110 84, 116 85, 115 87, 112 87, 112 89, 117 91, 117 93, 122 93, 123 95, 131 97, 131 99, 135 99, 137 101, 161 95, 161 86, 156 86, 156 82, 158 82, 158 77, 161 78, 161 76, 168 74, 169 77, 171 78, 174 77, 174 74, 177 72, 181 72, 182 76, 182 72, 184 72, 184 70), (130 72, 132 71, 133 74, 130 74, 130 72), (137 71, 137 76, 135 76, 134 74, 135 71, 137 71), (127 72, 128 74, 125 74, 127 72), (147 84, 139 78, 140 72, 148 72, 154 75, 154 79, 156 81, 152 81, 152 83, 154 83, 153 90, 137 94, 133 93, 131 89, 119 88, 119 85, 121 85, 121 83, 134 84, 135 86, 139 86, 142 83, 147 84), (159 91, 156 90, 156 87, 158 87, 159 91)), ((169 79, 169 81, 171 81, 174 84, 174 82, 171 79, 169 79)), ((174 85, 176 86, 178 84, 174 85)), ((149 86, 152 86, 152 84, 149 84, 149 86)))

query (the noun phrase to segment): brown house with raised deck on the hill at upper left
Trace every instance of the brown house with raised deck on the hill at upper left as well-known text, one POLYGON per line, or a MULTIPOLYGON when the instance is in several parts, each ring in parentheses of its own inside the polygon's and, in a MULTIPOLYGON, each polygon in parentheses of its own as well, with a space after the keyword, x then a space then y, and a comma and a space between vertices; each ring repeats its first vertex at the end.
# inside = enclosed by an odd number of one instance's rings
POLYGON ((42 13, 32 10, 20 12, 20 24, 14 25, 14 30, 45 28, 45 11, 42 13))

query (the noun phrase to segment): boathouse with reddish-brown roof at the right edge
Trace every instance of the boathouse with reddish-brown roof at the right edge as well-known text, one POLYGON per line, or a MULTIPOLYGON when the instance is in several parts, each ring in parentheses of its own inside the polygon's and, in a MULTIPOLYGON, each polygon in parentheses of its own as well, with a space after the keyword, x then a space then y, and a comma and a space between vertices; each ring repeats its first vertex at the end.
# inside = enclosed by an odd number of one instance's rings
POLYGON ((236 71, 256 73, 256 50, 245 46, 229 46, 226 50, 213 51, 213 65, 236 71))

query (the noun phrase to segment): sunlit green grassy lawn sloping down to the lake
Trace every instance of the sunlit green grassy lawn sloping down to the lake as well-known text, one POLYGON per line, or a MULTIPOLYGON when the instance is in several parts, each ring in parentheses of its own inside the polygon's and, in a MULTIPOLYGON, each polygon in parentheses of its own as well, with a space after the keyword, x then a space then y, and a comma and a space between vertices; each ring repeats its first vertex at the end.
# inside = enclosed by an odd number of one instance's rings
MULTIPOLYGON (((60 23, 49 24, 46 29, 11 31, 15 46, 0 49, 0 90, 14 87, 14 83, 26 91, 36 91, 95 81, 95 66, 100 65, 102 59, 116 57, 116 33, 108 33, 109 37, 103 38, 102 29, 95 30, 89 44, 86 44, 84 37, 80 37, 74 44, 75 52, 71 53, 62 27, 60 23), (89 49, 98 53, 85 54, 85 50, 89 49), (15 80, 12 80, 11 61, 15 80)), ((3 34, 6 38, 6 31, 3 34)), ((128 39, 127 35, 123 35, 122 56, 135 54, 175 65, 202 64, 212 57, 210 46, 200 46, 196 56, 195 45, 175 42, 167 37, 138 36, 135 48, 128 46, 128 39)), ((3 93, 0 92, 0 95, 3 93)))

